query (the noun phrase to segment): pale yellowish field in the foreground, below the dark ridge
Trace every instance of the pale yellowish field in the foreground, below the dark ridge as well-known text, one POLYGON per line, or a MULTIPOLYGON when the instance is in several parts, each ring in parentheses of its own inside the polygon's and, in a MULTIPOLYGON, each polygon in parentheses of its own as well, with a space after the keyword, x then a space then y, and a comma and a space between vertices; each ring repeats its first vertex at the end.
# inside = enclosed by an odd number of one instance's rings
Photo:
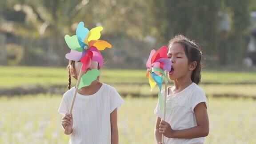
MULTIPOLYGON (((120 144, 154 144, 156 98, 124 98, 119 111, 120 144)), ((0 97, 0 144, 67 144, 57 112, 61 96, 0 97)), ((255 144, 256 104, 252 99, 209 97, 206 144, 255 144)))

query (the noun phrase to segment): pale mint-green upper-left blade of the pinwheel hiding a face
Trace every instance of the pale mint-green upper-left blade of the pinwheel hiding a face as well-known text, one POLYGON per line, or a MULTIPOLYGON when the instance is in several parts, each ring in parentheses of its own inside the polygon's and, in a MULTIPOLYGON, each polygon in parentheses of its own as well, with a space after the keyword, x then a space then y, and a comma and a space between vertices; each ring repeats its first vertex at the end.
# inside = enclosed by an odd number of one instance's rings
POLYGON ((65 35, 64 39, 70 49, 73 49, 78 52, 83 51, 83 48, 81 48, 76 35, 74 35, 74 36, 65 35))

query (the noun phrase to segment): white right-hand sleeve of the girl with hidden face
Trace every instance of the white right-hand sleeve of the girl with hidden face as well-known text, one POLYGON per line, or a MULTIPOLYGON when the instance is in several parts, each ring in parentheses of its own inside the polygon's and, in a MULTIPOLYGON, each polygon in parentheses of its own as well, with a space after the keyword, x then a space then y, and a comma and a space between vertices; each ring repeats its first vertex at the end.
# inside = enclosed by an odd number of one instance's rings
POLYGON ((116 89, 113 88, 112 92, 110 92, 110 113, 113 112, 116 108, 118 110, 123 103, 124 100, 116 91, 116 89))

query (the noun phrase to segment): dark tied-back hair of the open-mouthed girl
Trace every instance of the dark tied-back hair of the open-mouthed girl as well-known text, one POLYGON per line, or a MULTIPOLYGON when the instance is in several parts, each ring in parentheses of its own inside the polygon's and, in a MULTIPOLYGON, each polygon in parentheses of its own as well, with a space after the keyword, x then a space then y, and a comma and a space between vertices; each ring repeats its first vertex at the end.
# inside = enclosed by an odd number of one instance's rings
POLYGON ((194 41, 189 40, 187 37, 183 35, 174 36, 172 40, 168 43, 168 48, 172 44, 179 43, 183 46, 186 56, 188 57, 188 62, 191 63, 196 61, 196 68, 192 72, 191 80, 192 82, 199 84, 201 80, 201 58, 202 52, 200 51, 199 44, 196 44, 194 41))

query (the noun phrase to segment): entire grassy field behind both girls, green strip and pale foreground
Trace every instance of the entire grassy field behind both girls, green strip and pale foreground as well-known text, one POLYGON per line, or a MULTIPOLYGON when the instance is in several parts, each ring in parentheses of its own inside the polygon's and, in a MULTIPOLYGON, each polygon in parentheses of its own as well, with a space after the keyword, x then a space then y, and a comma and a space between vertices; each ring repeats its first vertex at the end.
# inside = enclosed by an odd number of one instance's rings
MULTIPOLYGON (((36 84, 63 85, 64 89, 67 79, 65 68, 0 67, 0 90, 36 84)), ((154 144, 157 99, 151 96, 156 95, 157 88, 150 92, 145 71, 103 69, 100 79, 125 96, 119 111, 120 144, 154 144)), ((209 98, 206 144, 256 144, 256 73, 203 72, 200 87, 209 98)), ((62 133, 62 116, 57 113, 61 97, 49 92, 0 95, 0 144, 67 143, 69 136, 62 133)))

